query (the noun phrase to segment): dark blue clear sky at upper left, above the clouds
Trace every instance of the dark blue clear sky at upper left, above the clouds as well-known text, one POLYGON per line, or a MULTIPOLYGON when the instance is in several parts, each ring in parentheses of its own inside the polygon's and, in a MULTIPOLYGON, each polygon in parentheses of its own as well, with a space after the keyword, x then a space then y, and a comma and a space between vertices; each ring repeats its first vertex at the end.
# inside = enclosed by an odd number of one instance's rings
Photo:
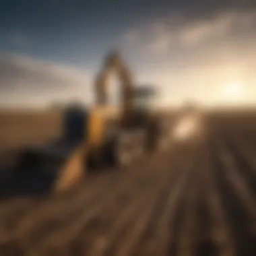
POLYGON ((127 28, 161 16, 161 1, 6 1, 1 49, 73 65, 98 62, 127 28), (23 44, 22 44, 23 42, 23 44), (26 44, 27 43, 27 44, 26 44))

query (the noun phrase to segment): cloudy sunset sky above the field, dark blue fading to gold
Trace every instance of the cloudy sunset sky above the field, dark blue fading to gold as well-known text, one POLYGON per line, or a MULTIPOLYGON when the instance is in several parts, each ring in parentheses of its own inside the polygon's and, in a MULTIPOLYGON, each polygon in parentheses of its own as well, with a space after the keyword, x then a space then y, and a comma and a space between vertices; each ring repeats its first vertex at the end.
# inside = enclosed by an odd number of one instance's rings
POLYGON ((254 0, 4 0, 0 31, 0 106, 93 104, 111 49, 158 105, 255 103, 254 0))

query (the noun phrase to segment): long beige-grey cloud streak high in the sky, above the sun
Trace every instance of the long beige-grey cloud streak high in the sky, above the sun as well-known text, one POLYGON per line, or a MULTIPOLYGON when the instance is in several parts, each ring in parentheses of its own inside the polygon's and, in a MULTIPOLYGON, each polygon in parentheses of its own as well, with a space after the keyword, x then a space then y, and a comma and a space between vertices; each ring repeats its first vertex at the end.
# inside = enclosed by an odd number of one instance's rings
MULTIPOLYGON (((186 20, 182 15, 152 22, 148 26, 130 29, 122 36, 123 45, 140 49, 141 53, 161 54, 174 49, 198 46, 239 33, 253 33, 256 11, 226 11, 200 20, 186 20)), ((242 35, 242 36, 243 36, 242 35)))

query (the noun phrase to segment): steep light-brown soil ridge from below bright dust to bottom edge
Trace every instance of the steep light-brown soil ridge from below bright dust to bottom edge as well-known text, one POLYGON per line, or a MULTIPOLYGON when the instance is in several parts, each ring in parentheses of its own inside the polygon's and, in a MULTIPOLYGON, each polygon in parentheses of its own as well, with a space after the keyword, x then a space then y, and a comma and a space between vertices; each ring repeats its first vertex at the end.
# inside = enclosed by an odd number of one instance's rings
POLYGON ((173 222, 178 201, 191 177, 191 165, 195 161, 196 153, 191 152, 185 162, 179 158, 179 162, 174 166, 175 177, 172 178, 171 185, 166 188, 165 195, 160 198, 163 205, 147 226, 146 234, 141 238, 137 250, 132 255, 166 255, 168 241, 172 239, 169 226, 173 222), (179 179, 176 176, 179 176, 179 179))

